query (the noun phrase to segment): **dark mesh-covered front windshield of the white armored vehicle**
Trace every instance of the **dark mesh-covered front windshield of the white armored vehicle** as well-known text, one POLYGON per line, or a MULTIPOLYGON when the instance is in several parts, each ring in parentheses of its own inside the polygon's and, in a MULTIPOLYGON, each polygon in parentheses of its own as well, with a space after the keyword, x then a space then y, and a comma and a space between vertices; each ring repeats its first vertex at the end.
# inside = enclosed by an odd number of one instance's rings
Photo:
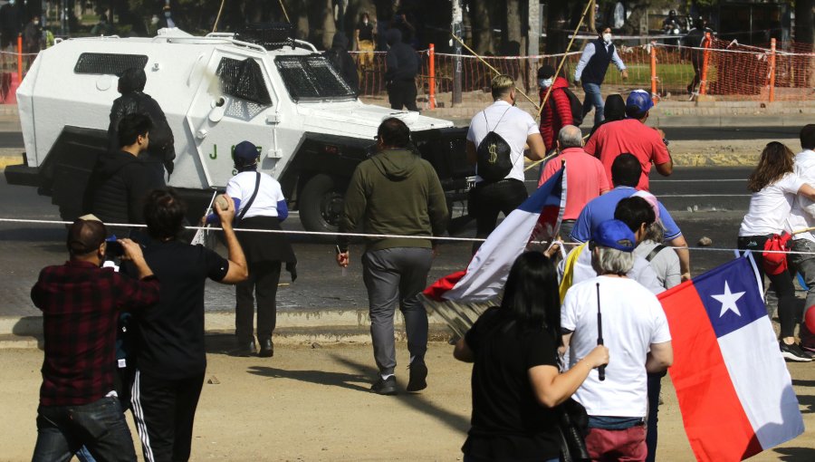
POLYGON ((294 101, 350 99, 357 96, 321 54, 278 56, 275 63, 294 101))

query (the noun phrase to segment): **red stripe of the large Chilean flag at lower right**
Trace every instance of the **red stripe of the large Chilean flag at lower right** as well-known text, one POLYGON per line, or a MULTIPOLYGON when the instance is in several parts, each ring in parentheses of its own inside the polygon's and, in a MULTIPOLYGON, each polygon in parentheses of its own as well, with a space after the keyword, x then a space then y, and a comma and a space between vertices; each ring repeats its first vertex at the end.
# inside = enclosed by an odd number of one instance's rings
POLYGON ((694 284, 676 286, 659 300, 674 348, 671 380, 696 459, 742 460, 761 452, 694 284))

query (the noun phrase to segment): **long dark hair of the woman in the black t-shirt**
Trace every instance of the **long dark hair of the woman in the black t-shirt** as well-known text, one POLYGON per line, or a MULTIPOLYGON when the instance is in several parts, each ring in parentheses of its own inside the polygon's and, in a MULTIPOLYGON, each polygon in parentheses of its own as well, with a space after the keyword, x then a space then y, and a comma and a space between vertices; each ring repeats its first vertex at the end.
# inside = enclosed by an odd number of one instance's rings
POLYGON ((561 299, 558 275, 551 260, 540 252, 519 256, 503 291, 501 309, 513 314, 525 329, 544 329, 561 343, 561 299))

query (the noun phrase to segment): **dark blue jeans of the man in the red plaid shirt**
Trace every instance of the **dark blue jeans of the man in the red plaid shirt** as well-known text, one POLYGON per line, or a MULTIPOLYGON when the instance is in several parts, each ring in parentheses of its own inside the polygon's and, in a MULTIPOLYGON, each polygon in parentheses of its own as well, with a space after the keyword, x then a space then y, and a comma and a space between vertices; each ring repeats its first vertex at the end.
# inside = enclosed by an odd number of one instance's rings
POLYGON ((119 399, 82 406, 40 406, 33 462, 68 461, 82 446, 99 460, 136 460, 119 399))

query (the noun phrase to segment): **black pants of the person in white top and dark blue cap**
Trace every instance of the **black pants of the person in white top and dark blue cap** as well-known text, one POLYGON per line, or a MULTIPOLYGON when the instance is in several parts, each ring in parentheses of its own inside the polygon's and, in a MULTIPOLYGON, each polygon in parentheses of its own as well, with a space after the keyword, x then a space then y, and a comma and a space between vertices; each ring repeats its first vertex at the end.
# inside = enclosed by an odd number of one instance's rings
POLYGON ((254 338, 254 299, 257 298, 257 338, 271 338, 277 324, 277 283, 280 262, 249 264, 249 277, 235 286, 235 335, 242 345, 254 338), (254 294, 253 294, 254 293, 254 294))

